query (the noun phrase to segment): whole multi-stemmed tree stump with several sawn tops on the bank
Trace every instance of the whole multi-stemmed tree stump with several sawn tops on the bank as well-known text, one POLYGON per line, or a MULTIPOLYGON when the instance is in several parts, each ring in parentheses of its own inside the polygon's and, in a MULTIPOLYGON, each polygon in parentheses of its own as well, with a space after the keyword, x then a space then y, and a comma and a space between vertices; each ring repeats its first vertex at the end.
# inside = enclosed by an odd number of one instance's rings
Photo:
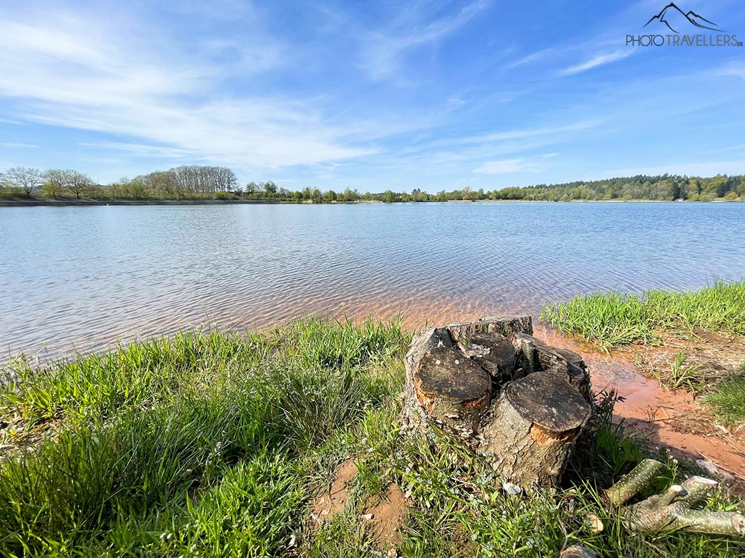
MULTIPOLYGON (((484 454, 504 481, 559 481, 592 414, 582 358, 531 334, 530 317, 426 329, 405 357, 402 422, 435 424, 484 454)), ((421 433, 420 433, 421 434, 421 433)))

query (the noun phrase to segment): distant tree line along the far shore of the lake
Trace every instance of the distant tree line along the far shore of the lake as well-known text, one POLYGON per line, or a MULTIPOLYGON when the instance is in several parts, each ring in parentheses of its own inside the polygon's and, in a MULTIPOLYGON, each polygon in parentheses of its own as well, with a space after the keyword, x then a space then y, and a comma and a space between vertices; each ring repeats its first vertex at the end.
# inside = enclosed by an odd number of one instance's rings
POLYGON ((421 188, 408 192, 386 190, 361 194, 357 188, 321 191, 310 186, 289 190, 272 181, 238 183, 226 167, 183 165, 155 171, 109 185, 96 184, 89 175, 70 169, 13 167, 0 174, 0 197, 51 200, 271 200, 285 203, 348 203, 356 201, 427 202, 475 200, 745 200, 745 177, 659 176, 609 178, 536 186, 509 186, 491 191, 466 186, 429 194, 421 188))

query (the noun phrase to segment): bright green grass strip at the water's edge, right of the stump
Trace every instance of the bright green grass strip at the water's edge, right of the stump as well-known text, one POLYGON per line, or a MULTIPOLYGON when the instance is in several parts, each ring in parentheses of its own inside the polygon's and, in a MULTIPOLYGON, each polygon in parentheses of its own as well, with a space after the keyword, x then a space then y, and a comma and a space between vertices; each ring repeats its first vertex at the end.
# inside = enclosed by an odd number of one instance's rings
POLYGON ((546 305, 541 320, 566 335, 603 349, 628 343, 656 343, 656 331, 700 329, 745 335, 745 281, 717 282, 699 291, 615 291, 546 305))

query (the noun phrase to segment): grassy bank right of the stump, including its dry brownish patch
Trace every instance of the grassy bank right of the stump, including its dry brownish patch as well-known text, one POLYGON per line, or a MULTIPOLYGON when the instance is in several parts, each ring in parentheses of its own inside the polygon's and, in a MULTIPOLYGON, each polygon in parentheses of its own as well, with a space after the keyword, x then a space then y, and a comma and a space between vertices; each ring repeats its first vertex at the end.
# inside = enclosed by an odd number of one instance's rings
MULTIPOLYGON (((631 343, 656 346, 665 339, 687 340, 688 352, 673 352, 664 366, 658 358, 656 365, 644 370, 671 389, 705 393, 708 407, 723 422, 736 426, 745 423, 745 364, 730 375, 721 366, 711 366, 711 355, 699 361, 691 358, 691 352, 716 347, 711 339, 700 337, 702 332, 721 338, 720 355, 727 352, 728 357, 737 356, 737 347, 729 345, 726 338, 745 336, 745 282, 717 282, 685 293, 590 294, 545 306, 541 319, 565 335, 606 351, 631 343)), ((653 348, 644 351, 652 352, 653 348)), ((741 359, 745 360, 745 354, 741 359)))

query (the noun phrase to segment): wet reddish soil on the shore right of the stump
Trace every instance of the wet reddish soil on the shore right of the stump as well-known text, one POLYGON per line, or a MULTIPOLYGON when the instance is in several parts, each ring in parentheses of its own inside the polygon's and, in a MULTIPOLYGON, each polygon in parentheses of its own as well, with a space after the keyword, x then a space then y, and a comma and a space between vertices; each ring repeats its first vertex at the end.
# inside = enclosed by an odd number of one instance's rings
MULTIPOLYGON (((732 357, 733 346, 727 349, 720 343, 732 341, 712 339, 671 342, 665 346, 630 349, 603 355, 592 347, 576 340, 548 331, 536 325, 536 337, 555 346, 565 346, 585 359, 596 392, 615 390, 624 397, 615 407, 615 416, 644 437, 654 448, 668 448, 676 457, 689 460, 707 460, 718 469, 739 479, 745 479, 745 440, 741 432, 733 432, 717 425, 714 417, 702 408, 694 396, 684 390, 666 390, 658 381, 642 374, 643 367, 634 361, 657 362, 669 367, 674 355, 681 350, 698 355, 699 360, 711 360, 722 370, 730 369, 735 362, 745 361, 732 357), (682 346, 681 343, 685 343, 682 346), (642 356, 646 355, 646 356, 642 356), (720 355, 732 360, 722 361, 720 355)), ((735 342, 735 343, 741 343, 735 342)), ((739 349, 739 346, 738 346, 739 349)), ((745 355, 745 350, 742 353, 745 355)), ((648 370, 648 369, 647 369, 648 370)))

